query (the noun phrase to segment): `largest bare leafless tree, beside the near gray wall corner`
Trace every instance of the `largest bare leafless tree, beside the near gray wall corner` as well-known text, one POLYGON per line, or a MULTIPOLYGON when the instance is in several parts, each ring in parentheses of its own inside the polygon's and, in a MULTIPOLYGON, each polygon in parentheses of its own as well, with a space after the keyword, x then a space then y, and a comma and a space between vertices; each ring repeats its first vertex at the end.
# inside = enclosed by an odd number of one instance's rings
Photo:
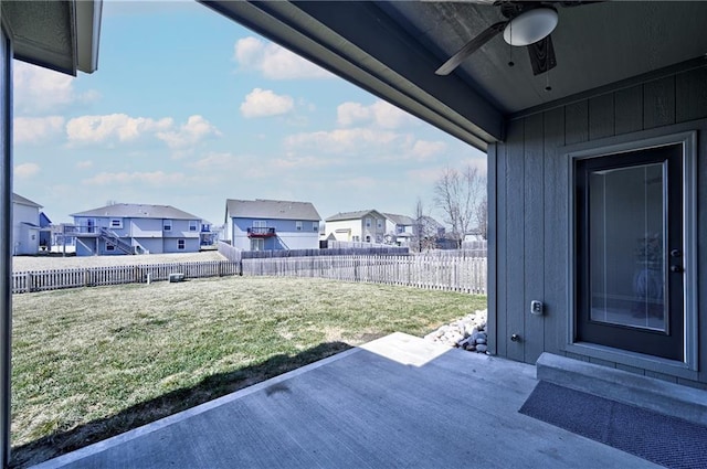
POLYGON ((451 226, 451 235, 458 247, 462 246, 466 233, 472 228, 481 228, 479 206, 485 194, 486 178, 471 164, 462 171, 445 169, 434 183, 434 203, 444 214, 444 222, 451 226))

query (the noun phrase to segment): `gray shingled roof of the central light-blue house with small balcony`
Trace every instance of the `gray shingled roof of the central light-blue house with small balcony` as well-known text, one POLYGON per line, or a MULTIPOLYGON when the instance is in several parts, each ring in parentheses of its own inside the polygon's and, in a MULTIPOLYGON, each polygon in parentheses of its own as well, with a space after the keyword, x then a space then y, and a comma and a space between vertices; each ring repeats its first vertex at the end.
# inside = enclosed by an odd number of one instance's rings
POLYGON ((225 201, 226 217, 232 218, 270 218, 302 220, 318 222, 319 213, 310 202, 293 202, 255 199, 225 201))

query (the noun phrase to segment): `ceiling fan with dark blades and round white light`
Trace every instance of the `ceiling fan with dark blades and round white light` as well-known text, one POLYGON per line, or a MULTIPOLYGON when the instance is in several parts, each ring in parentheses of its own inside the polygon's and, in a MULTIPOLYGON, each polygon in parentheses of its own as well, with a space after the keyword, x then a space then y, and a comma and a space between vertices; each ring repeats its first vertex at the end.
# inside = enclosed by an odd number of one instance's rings
MULTIPOLYGON (((488 0, 472 0, 474 3, 488 4, 488 0)), ((496 0, 495 7, 506 18, 492 24, 476 38, 467 42, 456 54, 452 55, 440 68, 437 75, 449 75, 466 57, 476 52, 497 34, 503 32, 504 40, 511 46, 527 46, 532 65, 532 74, 539 75, 557 65, 555 47, 550 33, 557 26, 558 15, 556 4, 562 7, 578 7, 595 3, 594 1, 513 1, 496 0)), ((513 65, 513 62, 509 62, 513 65)))

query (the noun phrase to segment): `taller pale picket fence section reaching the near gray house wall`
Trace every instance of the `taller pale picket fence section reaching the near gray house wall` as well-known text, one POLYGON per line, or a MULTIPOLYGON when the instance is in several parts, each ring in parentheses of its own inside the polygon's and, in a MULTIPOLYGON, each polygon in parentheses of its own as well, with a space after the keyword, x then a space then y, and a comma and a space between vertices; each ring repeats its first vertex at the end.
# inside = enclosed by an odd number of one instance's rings
POLYGON ((243 275, 319 277, 486 294, 485 257, 318 256, 243 259, 243 275))

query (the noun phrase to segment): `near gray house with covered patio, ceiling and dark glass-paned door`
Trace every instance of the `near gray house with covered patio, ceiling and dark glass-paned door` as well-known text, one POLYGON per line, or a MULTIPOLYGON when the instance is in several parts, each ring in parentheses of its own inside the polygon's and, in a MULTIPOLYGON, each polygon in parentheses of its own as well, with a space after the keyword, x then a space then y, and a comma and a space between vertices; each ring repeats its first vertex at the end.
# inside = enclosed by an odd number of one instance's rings
POLYGON ((492 353, 707 388, 707 2, 548 3, 207 4, 487 153, 492 353))

